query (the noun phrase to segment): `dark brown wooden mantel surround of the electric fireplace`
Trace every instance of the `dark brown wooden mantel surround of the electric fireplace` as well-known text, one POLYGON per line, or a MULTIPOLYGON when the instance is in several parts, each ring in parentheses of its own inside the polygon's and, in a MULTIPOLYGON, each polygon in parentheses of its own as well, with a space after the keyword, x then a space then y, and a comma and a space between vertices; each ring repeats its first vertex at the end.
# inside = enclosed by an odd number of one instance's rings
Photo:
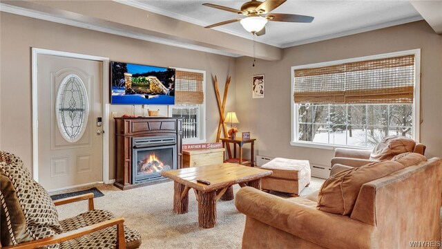
POLYGON ((177 169, 182 167, 182 118, 114 118, 115 119, 115 183, 121 190, 169 181, 167 178, 146 183, 132 183, 132 138, 176 136, 177 169))

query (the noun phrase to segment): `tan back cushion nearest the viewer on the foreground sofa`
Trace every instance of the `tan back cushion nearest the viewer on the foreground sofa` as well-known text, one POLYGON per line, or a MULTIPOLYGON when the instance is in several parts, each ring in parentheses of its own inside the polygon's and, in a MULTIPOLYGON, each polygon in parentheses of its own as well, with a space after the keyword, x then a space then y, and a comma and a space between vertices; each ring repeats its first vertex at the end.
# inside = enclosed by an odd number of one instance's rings
POLYGON ((401 163, 385 160, 338 172, 320 187, 316 208, 333 214, 350 215, 364 183, 403 168, 401 163))

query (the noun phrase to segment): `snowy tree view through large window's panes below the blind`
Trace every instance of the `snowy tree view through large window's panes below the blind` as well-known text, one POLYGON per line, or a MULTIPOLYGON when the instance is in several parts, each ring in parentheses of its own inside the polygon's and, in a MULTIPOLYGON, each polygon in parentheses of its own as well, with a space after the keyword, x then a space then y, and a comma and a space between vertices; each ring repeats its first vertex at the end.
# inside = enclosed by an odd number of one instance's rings
POLYGON ((412 137, 412 104, 298 104, 298 140, 374 147, 386 136, 412 137))

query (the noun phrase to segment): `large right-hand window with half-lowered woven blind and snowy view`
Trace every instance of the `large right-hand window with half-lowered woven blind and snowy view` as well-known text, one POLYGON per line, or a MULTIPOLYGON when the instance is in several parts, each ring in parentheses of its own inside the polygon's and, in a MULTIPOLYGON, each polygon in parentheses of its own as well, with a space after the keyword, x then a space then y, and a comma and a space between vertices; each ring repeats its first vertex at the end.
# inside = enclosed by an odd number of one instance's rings
POLYGON ((419 140, 419 50, 292 67, 292 145, 419 140))

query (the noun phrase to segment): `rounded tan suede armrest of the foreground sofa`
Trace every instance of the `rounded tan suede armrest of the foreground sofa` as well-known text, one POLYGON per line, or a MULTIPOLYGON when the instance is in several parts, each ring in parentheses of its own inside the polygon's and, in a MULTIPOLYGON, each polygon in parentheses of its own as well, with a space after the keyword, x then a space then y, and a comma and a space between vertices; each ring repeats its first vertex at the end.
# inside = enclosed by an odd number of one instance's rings
POLYGON ((243 214, 325 248, 370 248, 374 226, 329 214, 253 187, 242 187, 235 198, 243 214))

